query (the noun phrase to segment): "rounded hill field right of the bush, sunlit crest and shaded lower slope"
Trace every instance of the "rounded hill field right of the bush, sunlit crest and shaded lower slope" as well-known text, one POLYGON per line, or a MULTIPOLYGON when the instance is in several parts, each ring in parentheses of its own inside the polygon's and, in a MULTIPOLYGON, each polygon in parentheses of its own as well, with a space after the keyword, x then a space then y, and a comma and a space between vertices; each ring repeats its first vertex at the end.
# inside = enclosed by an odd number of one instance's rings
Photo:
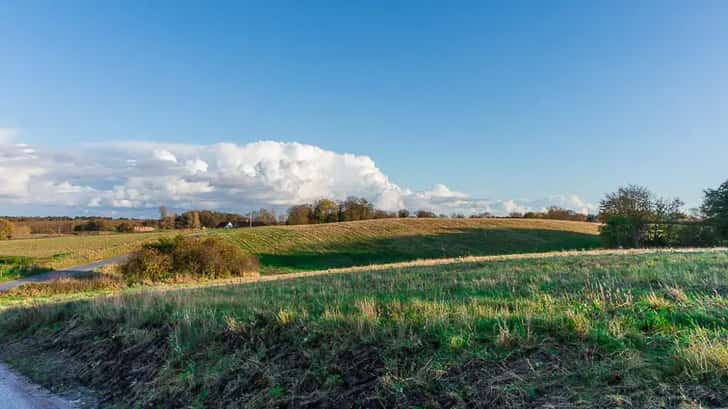
POLYGON ((534 219, 382 219, 219 232, 262 273, 600 246, 594 223, 534 219))

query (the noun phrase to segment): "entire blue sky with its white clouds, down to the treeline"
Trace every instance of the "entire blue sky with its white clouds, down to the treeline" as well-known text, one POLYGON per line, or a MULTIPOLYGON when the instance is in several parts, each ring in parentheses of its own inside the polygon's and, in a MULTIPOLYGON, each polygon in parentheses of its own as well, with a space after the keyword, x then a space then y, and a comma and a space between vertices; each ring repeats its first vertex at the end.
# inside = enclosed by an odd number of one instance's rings
POLYGON ((0 3, 0 214, 594 212, 728 178, 728 3, 0 3))

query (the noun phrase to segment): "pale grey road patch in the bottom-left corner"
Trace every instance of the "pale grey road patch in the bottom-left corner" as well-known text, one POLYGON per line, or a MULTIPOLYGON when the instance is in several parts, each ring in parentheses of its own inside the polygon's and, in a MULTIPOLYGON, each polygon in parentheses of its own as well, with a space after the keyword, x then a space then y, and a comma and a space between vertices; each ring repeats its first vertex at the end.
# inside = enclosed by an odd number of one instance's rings
POLYGON ((52 394, 0 363, 0 408, 74 409, 75 402, 52 394))

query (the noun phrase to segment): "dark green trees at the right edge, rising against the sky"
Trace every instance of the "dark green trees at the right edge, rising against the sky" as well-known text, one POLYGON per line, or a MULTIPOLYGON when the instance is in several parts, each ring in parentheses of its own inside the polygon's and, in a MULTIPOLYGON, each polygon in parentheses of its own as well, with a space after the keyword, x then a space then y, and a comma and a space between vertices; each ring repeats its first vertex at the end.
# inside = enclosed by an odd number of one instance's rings
POLYGON ((694 215, 678 199, 629 185, 600 202, 601 236, 609 247, 711 246, 728 240, 728 181, 704 191, 694 215))

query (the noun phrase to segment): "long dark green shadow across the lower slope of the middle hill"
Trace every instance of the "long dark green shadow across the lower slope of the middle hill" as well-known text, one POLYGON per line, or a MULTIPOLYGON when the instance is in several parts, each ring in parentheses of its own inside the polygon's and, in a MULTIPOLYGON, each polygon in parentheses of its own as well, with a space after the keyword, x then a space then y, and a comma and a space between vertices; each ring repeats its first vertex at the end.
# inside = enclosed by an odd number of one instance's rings
POLYGON ((259 253, 266 273, 319 270, 428 258, 594 249, 598 236, 538 229, 451 229, 446 233, 324 243, 317 251, 259 253))

